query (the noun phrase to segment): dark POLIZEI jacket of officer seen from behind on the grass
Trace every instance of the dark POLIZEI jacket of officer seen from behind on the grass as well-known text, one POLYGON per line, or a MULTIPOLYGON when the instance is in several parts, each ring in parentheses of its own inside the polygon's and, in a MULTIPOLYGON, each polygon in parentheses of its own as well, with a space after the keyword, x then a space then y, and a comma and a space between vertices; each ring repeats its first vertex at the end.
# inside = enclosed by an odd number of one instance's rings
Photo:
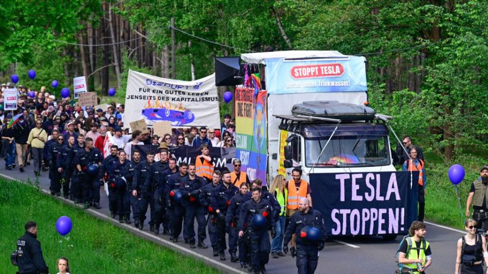
POLYGON ((17 253, 19 273, 49 273, 42 256, 41 243, 35 234, 26 231, 17 240, 17 253))

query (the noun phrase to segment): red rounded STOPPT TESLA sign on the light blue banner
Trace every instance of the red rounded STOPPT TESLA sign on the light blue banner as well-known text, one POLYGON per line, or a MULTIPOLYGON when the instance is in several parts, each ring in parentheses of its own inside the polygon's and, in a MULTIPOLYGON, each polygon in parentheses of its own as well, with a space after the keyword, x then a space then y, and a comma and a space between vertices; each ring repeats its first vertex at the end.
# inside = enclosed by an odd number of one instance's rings
POLYGON ((344 74, 344 66, 340 63, 295 65, 290 75, 294 79, 338 77, 344 74))

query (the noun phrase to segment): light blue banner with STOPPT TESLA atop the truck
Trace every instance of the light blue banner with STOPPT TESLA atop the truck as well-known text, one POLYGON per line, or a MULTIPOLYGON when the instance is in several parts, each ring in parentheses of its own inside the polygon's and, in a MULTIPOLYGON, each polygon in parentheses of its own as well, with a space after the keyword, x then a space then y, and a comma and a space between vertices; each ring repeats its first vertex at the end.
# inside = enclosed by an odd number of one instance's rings
POLYGON ((366 91, 365 58, 266 60, 270 94, 366 91))

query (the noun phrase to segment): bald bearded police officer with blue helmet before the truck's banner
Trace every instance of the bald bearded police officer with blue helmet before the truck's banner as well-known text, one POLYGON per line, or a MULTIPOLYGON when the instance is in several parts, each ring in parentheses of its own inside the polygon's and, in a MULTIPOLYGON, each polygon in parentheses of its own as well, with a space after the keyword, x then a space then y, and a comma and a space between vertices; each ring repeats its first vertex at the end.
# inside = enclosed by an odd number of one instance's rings
POLYGON ((318 210, 312 209, 310 201, 306 197, 301 197, 298 200, 298 211, 290 217, 290 223, 286 229, 283 242, 283 251, 285 253, 288 253, 288 243, 292 234, 296 235, 296 267, 298 267, 298 274, 313 274, 317 268, 319 251, 324 248, 327 234, 322 214, 318 210), (311 227, 320 230, 320 235, 317 238, 310 239, 309 230, 311 227))

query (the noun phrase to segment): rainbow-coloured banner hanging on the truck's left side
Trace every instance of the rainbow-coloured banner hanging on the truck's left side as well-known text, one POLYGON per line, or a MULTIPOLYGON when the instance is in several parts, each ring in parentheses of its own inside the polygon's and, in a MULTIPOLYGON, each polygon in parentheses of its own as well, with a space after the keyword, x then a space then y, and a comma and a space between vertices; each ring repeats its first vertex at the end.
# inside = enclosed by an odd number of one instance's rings
POLYGON ((266 90, 257 95, 252 88, 235 90, 236 158, 241 160, 241 170, 250 181, 258 178, 263 184, 267 170, 266 97, 266 90))

